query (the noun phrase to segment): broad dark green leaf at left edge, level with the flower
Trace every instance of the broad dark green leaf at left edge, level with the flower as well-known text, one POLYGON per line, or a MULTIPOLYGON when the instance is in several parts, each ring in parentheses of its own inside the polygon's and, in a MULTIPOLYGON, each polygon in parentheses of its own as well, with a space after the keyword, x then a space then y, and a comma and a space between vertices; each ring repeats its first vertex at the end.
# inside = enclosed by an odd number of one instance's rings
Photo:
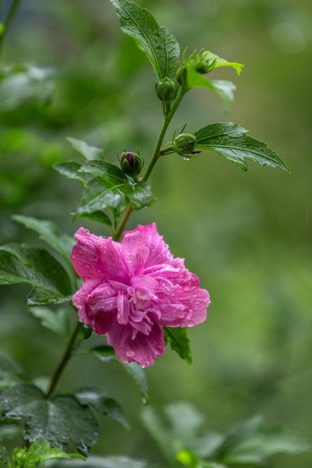
POLYGON ((10 243, 0 247, 0 284, 30 284, 28 305, 71 300, 71 283, 64 268, 42 248, 10 243))

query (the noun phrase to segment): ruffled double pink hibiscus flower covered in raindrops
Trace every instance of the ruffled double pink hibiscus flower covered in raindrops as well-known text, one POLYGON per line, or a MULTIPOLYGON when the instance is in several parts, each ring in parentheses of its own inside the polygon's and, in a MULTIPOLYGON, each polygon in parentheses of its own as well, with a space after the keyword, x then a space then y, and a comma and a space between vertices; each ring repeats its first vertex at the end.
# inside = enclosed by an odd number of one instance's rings
POLYGON ((173 258, 156 223, 125 232, 120 243, 83 227, 75 237, 72 263, 85 282, 73 303, 84 323, 107 333, 120 360, 150 366, 165 352, 163 326, 206 319, 208 291, 183 259, 173 258))

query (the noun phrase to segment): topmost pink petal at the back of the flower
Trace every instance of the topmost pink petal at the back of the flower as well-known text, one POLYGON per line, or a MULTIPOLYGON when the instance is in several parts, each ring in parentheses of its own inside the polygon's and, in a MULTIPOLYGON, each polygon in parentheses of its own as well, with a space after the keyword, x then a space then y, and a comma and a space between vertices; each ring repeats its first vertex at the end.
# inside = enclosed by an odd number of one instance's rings
POLYGON ((170 263, 173 255, 169 246, 165 243, 163 236, 157 231, 156 222, 142 226, 139 224, 134 231, 127 231, 125 234, 139 231, 145 241, 145 246, 149 248, 149 255, 145 262, 145 267, 157 265, 159 263, 170 263))

